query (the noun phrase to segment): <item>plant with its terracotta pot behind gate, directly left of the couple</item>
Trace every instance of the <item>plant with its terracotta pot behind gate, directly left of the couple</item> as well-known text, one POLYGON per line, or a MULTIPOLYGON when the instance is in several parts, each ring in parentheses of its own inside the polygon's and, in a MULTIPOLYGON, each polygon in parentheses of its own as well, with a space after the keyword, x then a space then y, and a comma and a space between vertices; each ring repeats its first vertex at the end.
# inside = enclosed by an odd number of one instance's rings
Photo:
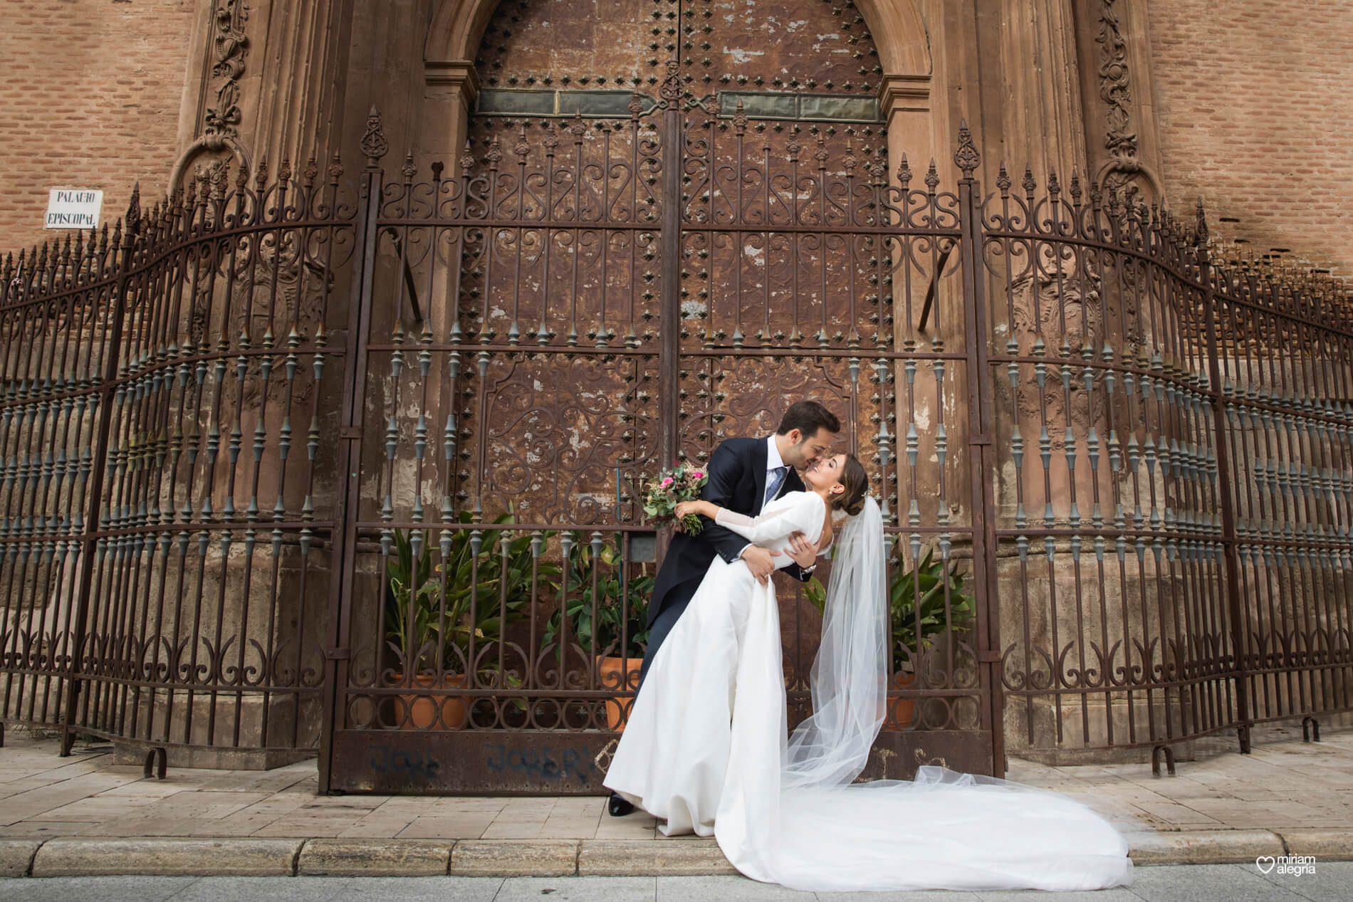
MULTIPOLYGON (((639 688, 639 671, 648 642, 648 599, 653 592, 653 577, 647 564, 640 565, 640 573, 630 575, 628 584, 622 586, 620 538, 617 533, 613 542, 595 536, 586 541, 580 531, 566 537, 568 577, 564 581, 567 600, 563 611, 578 648, 584 653, 597 652, 598 686, 616 690, 614 699, 606 702, 606 726, 617 733, 625 729, 628 717, 625 695, 639 688), (622 598, 626 599, 624 604, 622 598)), ((560 623, 560 613, 555 611, 545 625, 543 650, 561 640, 560 623)), ((563 648, 556 656, 563 657, 563 648)))

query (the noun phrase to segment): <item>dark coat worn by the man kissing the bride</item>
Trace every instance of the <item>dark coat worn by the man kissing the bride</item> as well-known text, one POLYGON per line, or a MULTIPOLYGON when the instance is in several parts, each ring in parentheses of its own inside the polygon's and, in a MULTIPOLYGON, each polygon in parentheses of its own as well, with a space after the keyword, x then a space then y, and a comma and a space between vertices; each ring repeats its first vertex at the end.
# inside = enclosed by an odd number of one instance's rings
MULTIPOLYGON (((747 517, 760 514, 760 502, 766 495, 766 452, 764 435, 729 438, 723 442, 709 457, 709 467, 705 468, 709 481, 705 483, 700 496, 747 517)), ((775 498, 801 491, 804 480, 790 467, 775 498)), ((672 533, 671 545, 653 584, 653 598, 648 603, 649 625, 663 607, 675 600, 689 600, 695 594, 716 552, 732 564, 747 546, 747 540, 731 529, 718 526, 705 517, 701 517, 701 521, 705 523, 705 530, 700 536, 672 533)), ((809 579, 798 564, 790 564, 785 572, 805 583, 809 579)))

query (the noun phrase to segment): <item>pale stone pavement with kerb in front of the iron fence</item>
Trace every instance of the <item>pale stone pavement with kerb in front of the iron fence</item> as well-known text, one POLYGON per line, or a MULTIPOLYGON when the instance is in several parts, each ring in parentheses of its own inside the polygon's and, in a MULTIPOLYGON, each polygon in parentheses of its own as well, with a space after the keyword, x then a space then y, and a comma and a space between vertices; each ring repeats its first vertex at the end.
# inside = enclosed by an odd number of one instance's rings
MULTIPOLYGON (((1353 730, 1256 730, 1197 744, 1177 776, 1149 764, 1047 767, 1012 780, 1080 798, 1120 824, 1147 863, 1353 860, 1353 730)), ((712 840, 667 838, 651 817, 612 818, 601 798, 315 794, 314 761, 273 771, 170 769, 145 779, 107 745, 57 756, 54 738, 7 730, 0 749, 0 876, 693 875, 729 874, 712 840)))

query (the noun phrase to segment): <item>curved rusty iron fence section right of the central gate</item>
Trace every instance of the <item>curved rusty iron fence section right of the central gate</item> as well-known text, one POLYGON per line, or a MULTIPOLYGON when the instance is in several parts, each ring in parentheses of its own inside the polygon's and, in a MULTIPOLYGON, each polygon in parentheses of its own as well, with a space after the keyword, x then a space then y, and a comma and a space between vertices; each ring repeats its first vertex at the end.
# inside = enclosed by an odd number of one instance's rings
POLYGON ((1173 771, 1348 710, 1348 298, 1215 264, 1201 207, 1020 188, 982 211, 1011 742, 1173 771))

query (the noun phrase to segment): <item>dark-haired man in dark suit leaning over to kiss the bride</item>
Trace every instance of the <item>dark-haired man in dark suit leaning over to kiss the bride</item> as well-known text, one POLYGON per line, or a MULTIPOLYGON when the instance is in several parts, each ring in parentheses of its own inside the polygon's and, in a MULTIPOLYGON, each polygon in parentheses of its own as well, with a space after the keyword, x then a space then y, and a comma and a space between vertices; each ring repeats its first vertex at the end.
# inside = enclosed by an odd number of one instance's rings
MULTIPOLYGON (((836 415, 816 400, 794 402, 785 411, 774 435, 729 438, 721 442, 705 468, 709 480, 700 496, 735 513, 756 517, 771 500, 786 492, 804 490, 796 471, 816 464, 831 448, 840 427, 836 415)), ((775 569, 778 553, 758 548, 708 518, 701 519, 705 529, 700 534, 672 536, 658 571, 653 596, 648 603, 648 648, 639 671, 640 688, 648 673, 648 664, 695 595, 714 554, 729 564, 747 561, 747 569, 762 583, 775 569)), ((806 583, 816 567, 817 548, 802 533, 794 533, 790 540, 794 563, 785 572, 806 583)), ((633 811, 635 806, 613 794, 607 810, 621 817, 633 811)))

